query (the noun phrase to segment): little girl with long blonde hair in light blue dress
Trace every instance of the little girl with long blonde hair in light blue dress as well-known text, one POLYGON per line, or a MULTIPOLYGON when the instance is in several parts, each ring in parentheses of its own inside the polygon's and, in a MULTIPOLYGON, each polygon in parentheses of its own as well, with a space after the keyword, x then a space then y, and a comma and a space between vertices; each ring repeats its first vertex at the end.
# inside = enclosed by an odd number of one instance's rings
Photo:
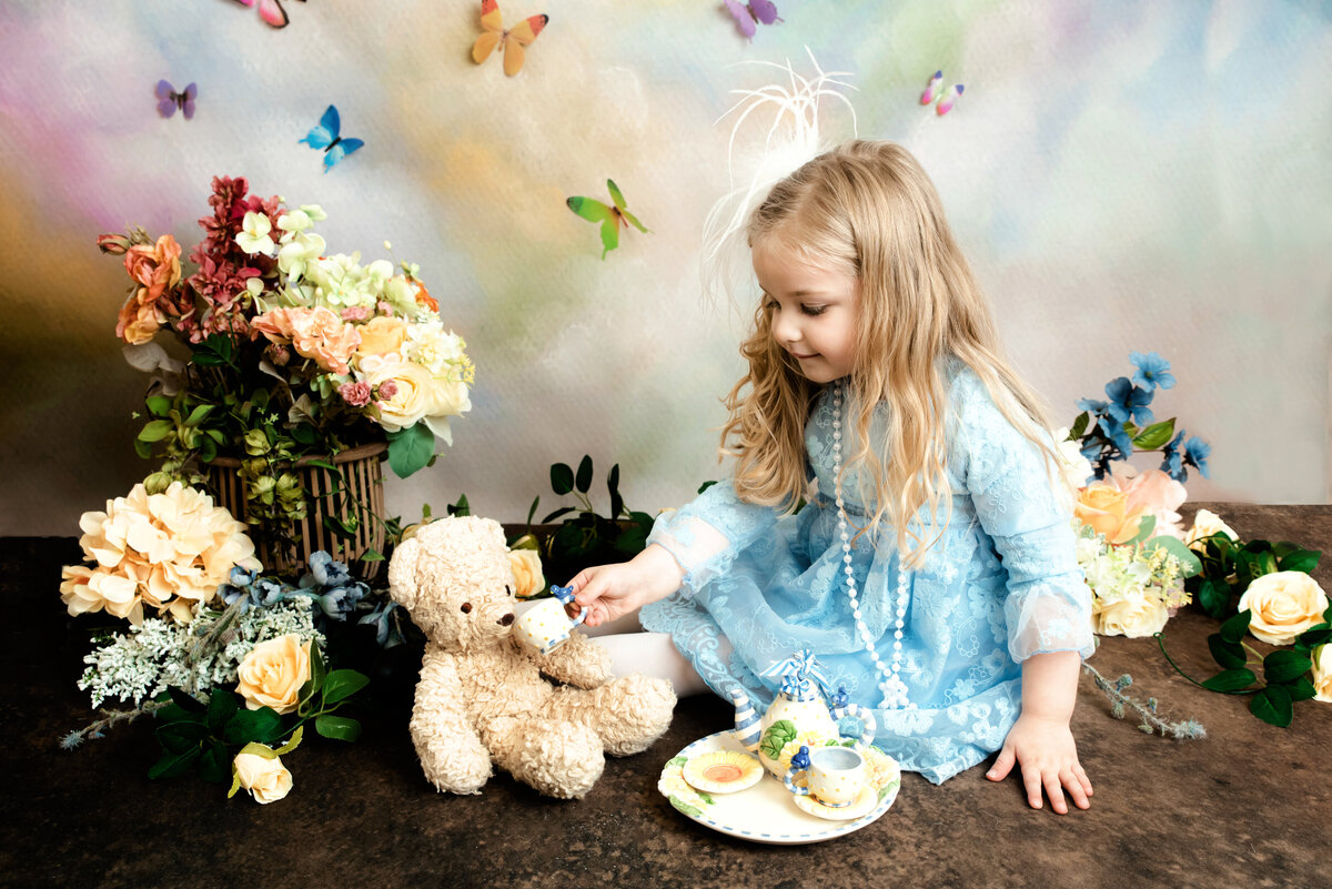
POLYGON ((1034 808, 1087 808, 1067 488, 934 185, 854 141, 778 182, 747 234, 763 293, 726 399, 734 476, 573 579, 587 624, 642 608, 713 691, 765 707, 766 671, 809 648, 904 769, 942 783, 1000 751, 991 780, 1016 761, 1034 808))

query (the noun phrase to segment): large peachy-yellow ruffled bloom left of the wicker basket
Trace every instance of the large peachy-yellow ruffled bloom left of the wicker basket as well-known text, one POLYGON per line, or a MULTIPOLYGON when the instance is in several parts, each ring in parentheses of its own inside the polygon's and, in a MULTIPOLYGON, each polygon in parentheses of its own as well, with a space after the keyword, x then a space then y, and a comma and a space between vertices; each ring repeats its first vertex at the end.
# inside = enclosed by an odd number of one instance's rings
POLYGON ((84 512, 79 527, 79 544, 96 564, 61 570, 60 598, 72 615, 105 610, 139 624, 148 604, 189 622, 232 567, 262 567, 245 526, 180 482, 161 494, 136 484, 105 512, 84 512))

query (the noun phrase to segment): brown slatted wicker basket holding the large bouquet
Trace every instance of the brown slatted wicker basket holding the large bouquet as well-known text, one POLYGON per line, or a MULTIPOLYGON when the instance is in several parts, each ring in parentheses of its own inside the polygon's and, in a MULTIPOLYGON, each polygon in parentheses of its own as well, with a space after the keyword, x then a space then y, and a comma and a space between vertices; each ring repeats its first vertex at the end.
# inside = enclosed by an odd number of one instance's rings
MULTIPOLYGON (((337 490, 338 478, 322 466, 309 466, 314 459, 333 463, 342 472, 348 492, 377 516, 384 515, 384 472, 381 463, 389 446, 385 443, 362 444, 342 451, 333 459, 304 458, 296 462, 294 471, 306 491, 306 516, 286 527, 272 527, 269 522, 249 523, 249 510, 245 500, 245 483, 237 470, 241 462, 232 456, 218 456, 208 470, 208 480, 217 491, 218 506, 225 506, 241 522, 245 522, 254 539, 254 555, 264 563, 264 572, 280 576, 294 576, 305 570, 310 556, 320 550, 330 552, 340 562, 346 562, 352 571, 369 579, 378 570, 378 563, 357 562, 366 551, 384 551, 384 526, 368 515, 365 510, 354 510, 356 534, 346 538, 324 527, 324 516, 337 508, 341 498, 325 496, 337 490), (288 538, 292 546, 282 546, 288 538)), ((337 518, 350 518, 346 511, 337 518)))

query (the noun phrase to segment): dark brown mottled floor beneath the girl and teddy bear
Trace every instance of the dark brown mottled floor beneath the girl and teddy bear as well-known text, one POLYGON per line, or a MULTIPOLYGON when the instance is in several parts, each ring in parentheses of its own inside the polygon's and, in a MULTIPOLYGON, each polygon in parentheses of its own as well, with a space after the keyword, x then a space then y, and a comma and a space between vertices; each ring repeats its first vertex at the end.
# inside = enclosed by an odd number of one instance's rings
MULTIPOLYGON (((1208 506, 1245 539, 1332 550, 1332 506, 1208 506)), ((1084 675, 1074 716, 1092 808, 1030 810, 1016 777, 983 768, 934 787, 904 776, 875 824, 829 842, 766 846, 714 833, 655 789, 665 760, 726 728, 714 697, 681 703, 646 753, 609 760, 581 801, 539 797, 506 776, 481 796, 440 795, 408 737, 409 693, 384 699, 354 747, 313 740, 289 757, 296 788, 272 805, 197 780, 149 781, 152 724, 64 752, 89 720, 75 680, 87 640, 57 596, 71 539, 0 548, 5 733, 0 885, 7 886, 1325 886, 1332 874, 1332 705, 1296 705, 1288 729, 1247 699, 1173 675, 1151 639, 1106 639, 1092 664, 1128 672, 1201 741, 1147 736, 1084 675)), ((1332 556, 1315 572, 1332 590, 1332 556)), ((1215 622, 1185 610, 1171 653, 1209 675, 1215 622)), ((390 689, 392 691, 392 689, 390 689)))

